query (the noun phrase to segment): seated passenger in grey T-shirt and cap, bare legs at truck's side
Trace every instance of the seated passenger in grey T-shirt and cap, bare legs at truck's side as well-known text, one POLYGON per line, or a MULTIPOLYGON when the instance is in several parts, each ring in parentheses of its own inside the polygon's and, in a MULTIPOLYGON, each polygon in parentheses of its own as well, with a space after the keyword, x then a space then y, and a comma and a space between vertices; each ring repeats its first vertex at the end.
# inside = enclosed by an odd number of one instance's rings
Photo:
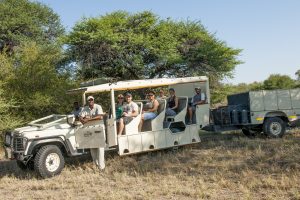
POLYGON ((125 125, 131 122, 132 119, 139 114, 139 107, 132 101, 132 94, 127 92, 125 94, 125 101, 123 114, 119 121, 118 135, 122 135, 125 125))

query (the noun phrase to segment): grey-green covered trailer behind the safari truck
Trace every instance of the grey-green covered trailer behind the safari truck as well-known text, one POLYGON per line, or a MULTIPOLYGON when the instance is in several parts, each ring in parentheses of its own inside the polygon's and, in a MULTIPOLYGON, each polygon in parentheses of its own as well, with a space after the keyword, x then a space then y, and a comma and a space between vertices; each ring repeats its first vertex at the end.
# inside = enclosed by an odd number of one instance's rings
POLYGON ((250 91, 227 100, 228 106, 212 110, 214 131, 242 129, 247 136, 277 138, 300 124, 300 88, 250 91))

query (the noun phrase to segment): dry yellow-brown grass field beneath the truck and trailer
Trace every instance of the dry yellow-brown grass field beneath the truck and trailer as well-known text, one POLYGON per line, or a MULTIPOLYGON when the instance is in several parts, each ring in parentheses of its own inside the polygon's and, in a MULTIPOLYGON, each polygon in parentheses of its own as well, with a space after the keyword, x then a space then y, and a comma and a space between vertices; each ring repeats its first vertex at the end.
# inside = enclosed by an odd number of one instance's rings
MULTIPOLYGON (((89 159, 39 179, 0 161, 1 199, 300 199, 300 134, 248 139, 205 136, 176 151, 109 155, 99 172, 89 159)), ((3 156, 3 153, 2 155, 3 156)))

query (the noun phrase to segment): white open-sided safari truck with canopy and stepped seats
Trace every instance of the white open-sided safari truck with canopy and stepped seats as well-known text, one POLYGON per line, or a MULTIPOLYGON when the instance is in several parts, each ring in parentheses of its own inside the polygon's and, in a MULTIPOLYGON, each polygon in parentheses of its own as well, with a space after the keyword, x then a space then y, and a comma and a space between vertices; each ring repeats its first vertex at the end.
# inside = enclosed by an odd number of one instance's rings
MULTIPOLYGON (((88 95, 110 92, 111 114, 104 120, 81 124, 73 115, 50 115, 35 120, 26 127, 17 128, 5 134, 6 155, 16 159, 23 169, 34 169, 42 177, 59 174, 64 168, 64 158, 79 156, 90 148, 104 147, 115 150, 120 156, 155 151, 200 142, 199 130, 209 124, 210 93, 208 78, 160 78, 131 80, 95 84, 87 82, 83 87, 68 91, 82 93, 83 104, 88 95), (91 86, 89 86, 91 85, 91 86), (117 135, 115 116, 116 92, 161 86, 172 87, 179 98, 177 115, 166 117, 166 100, 159 100, 156 118, 145 121, 142 132, 138 131, 141 111, 145 100, 134 99, 139 114, 125 126, 125 135, 117 135), (194 88, 200 87, 206 94, 206 104, 198 105, 192 124, 186 123, 189 100, 194 88)), ((96 102, 101 105, 101 102, 96 102)))

